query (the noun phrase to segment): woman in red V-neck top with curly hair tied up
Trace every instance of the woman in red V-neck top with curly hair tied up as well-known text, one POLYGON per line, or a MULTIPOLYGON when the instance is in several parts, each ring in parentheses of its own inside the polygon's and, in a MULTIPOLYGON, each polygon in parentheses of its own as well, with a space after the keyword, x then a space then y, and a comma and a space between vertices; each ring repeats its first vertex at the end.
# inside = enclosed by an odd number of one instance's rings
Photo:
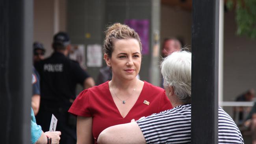
POLYGON ((106 31, 104 59, 112 79, 83 90, 70 107, 77 115, 77 144, 96 143, 107 127, 172 108, 163 89, 136 78, 141 47, 139 35, 126 25, 113 24, 106 31))

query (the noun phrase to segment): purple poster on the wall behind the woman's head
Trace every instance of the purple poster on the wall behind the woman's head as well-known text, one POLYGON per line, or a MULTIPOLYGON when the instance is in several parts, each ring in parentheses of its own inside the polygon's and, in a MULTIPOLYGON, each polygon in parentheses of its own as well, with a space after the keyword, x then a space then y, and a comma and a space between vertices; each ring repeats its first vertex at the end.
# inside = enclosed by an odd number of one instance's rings
POLYGON ((148 55, 149 53, 149 21, 147 19, 126 19, 124 23, 133 28, 141 38, 142 54, 148 55))

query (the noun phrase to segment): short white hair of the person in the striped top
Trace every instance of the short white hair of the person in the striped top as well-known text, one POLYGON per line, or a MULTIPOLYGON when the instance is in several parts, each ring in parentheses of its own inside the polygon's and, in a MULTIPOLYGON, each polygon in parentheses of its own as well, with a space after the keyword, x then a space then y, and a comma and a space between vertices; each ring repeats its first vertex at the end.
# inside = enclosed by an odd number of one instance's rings
POLYGON ((173 87, 174 94, 182 103, 191 102, 191 53, 173 52, 161 63, 164 87, 173 87))

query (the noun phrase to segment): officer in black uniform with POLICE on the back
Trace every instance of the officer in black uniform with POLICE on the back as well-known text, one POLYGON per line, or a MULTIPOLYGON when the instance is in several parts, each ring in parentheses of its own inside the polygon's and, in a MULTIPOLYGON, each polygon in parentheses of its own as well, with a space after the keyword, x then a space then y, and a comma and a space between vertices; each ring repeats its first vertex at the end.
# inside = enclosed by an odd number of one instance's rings
POLYGON ((69 36, 65 32, 54 35, 53 54, 35 63, 41 77, 41 103, 37 114, 37 124, 43 131, 49 131, 52 114, 58 119, 56 130, 61 131, 60 144, 76 143, 75 119, 67 111, 76 98, 76 84, 84 89, 95 85, 93 79, 80 65, 67 58, 70 49, 69 36))

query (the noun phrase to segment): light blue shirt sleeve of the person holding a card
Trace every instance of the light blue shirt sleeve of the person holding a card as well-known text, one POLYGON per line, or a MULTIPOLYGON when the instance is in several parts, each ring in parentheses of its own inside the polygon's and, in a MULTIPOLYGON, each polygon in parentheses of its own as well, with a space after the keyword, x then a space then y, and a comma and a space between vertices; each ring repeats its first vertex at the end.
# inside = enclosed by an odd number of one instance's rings
POLYGON ((43 131, 41 126, 37 125, 35 121, 34 111, 31 107, 31 144, 35 144, 38 138, 41 137, 43 131))

